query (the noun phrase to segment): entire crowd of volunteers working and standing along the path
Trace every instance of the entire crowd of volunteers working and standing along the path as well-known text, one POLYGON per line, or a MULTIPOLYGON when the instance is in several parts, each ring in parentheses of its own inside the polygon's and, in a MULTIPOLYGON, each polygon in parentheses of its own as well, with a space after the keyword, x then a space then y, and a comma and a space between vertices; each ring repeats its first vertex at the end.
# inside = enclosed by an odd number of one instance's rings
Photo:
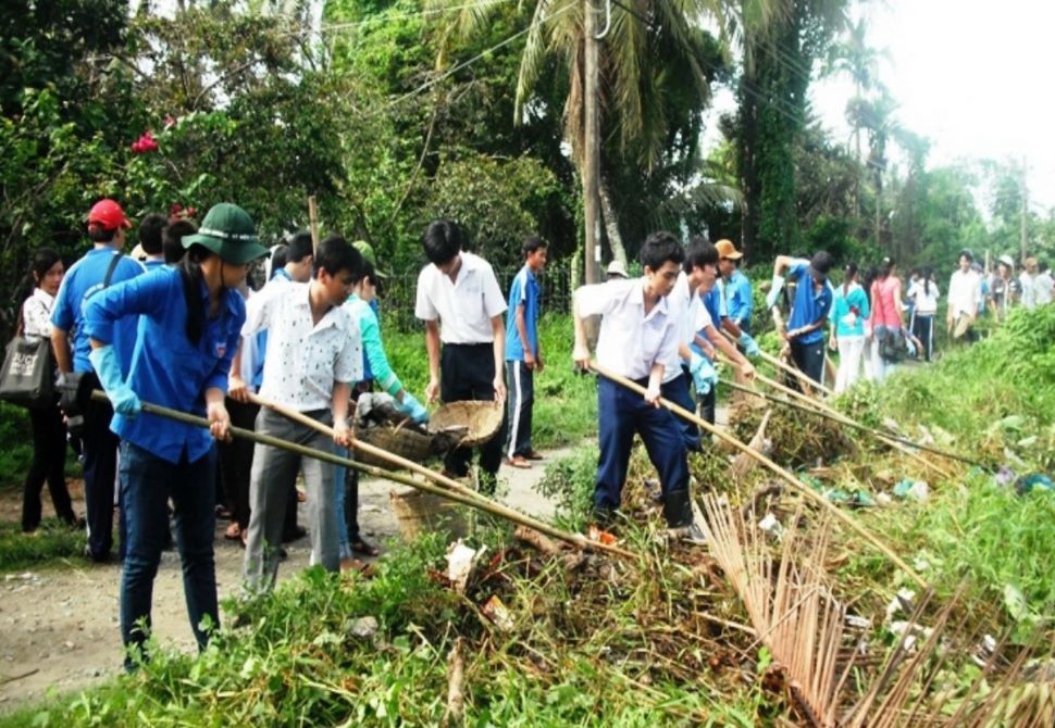
MULTIPOLYGON (((54 251, 38 251, 30 271, 35 288, 22 321, 27 336, 50 338, 65 392, 61 410, 32 413, 35 457, 23 527, 33 530, 40 522, 45 481, 59 517, 77 525, 62 464, 66 423, 71 428, 82 423, 86 555, 97 562, 111 557, 116 484, 124 564, 121 631, 133 668, 149 635, 152 583, 171 539, 170 515, 199 645, 219 624, 218 473, 233 515, 226 535, 246 547, 248 593, 265 593, 275 582, 290 515, 296 526, 298 473, 307 491, 312 562, 337 572, 353 553, 376 554, 358 528, 357 470, 272 444, 232 441, 232 427, 350 456, 353 407, 364 392, 384 392, 417 424, 426 423, 429 412, 385 354, 377 316, 385 275, 368 243, 332 236, 315 244, 299 233, 269 251, 245 210, 220 203, 197 228, 185 219, 145 217, 138 228, 140 263, 122 254, 131 228, 117 202, 101 200, 87 221, 94 247, 69 271, 54 251), (269 259, 268 279, 255 290, 247 277, 262 259, 269 259), (96 387, 105 400, 84 397, 96 387), (196 414, 208 429, 144 403, 196 414)), ((424 399, 507 405, 499 431, 479 447, 479 487, 493 494, 502 463, 526 468, 543 457, 531 435, 534 376, 545 367, 537 277, 548 246, 534 236, 524 240, 523 267, 508 299, 487 261, 464 249, 457 223, 431 223, 422 250, 429 262, 418 277, 414 313, 423 323, 429 362, 424 399)), ((618 513, 637 434, 659 473, 672 534, 702 541, 686 457, 704 438, 659 400, 698 411, 713 424, 716 364, 727 363, 741 381, 755 377, 750 359, 760 351, 750 334, 753 290, 738 269, 741 261, 729 240, 712 244, 694 237, 685 246, 670 233, 656 233, 642 247, 641 277, 629 277, 617 264, 607 281, 574 292, 574 361, 603 375, 594 493, 598 520, 610 523, 618 513), (593 353, 592 316, 600 317, 593 353), (620 377, 640 385, 644 397, 618 384, 620 377)), ((877 347, 882 360, 882 342, 905 330, 895 266, 885 261, 862 288, 849 265, 837 289, 828 278, 831 266, 827 252, 809 260, 778 256, 767 304, 778 303, 785 283, 794 287, 784 336, 808 376, 822 379, 824 327, 831 323, 831 341, 843 362, 859 361, 870 340, 872 372, 882 377, 886 369, 876 361, 877 347)), ((909 316, 918 325, 914 330, 928 332, 915 338, 926 341, 932 341, 936 311, 932 285, 921 276, 907 294, 914 304, 909 316)), ((951 300, 959 286, 954 275, 951 300)), ((951 324, 957 311, 951 307, 951 324)), ((842 368, 840 377, 841 388, 853 384, 842 368)), ((446 455, 444 472, 464 478, 471 461, 470 450, 457 448, 446 455)))

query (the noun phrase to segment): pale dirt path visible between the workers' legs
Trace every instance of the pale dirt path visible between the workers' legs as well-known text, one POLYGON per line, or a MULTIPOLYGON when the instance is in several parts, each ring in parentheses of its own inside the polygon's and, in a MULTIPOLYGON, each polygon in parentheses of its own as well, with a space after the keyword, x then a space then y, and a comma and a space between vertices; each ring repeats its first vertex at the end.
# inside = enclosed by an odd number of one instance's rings
MULTIPOLYGON (((570 450, 551 451, 549 460, 570 450)), ((504 467, 509 485, 507 504, 535 516, 548 517, 553 504, 533 490, 544 468, 504 467)), ((397 486, 398 487, 398 486, 397 486)), ((360 485, 360 524, 364 536, 377 543, 398 538, 396 518, 388 505, 393 488, 383 480, 360 485)), ((17 498, 12 493, 9 498, 17 498)), ((18 503, 0 504, 2 517, 17 519, 18 503)), ((76 503, 78 512, 84 504, 76 503)), ((46 513, 50 503, 46 502, 46 513)), ((301 513, 300 523, 306 515, 301 513)), ((220 598, 237 593, 243 550, 223 539, 226 522, 216 530, 216 582, 220 598)), ((301 539, 287 547, 289 557, 280 567, 286 579, 308 563, 310 544, 301 539)), ((119 565, 89 565, 76 560, 22 574, 0 576, 0 712, 39 700, 50 688, 67 692, 114 675, 122 661, 117 625, 119 565)), ((153 593, 153 627, 162 643, 185 651, 194 638, 183 597, 179 558, 165 552, 153 593)))

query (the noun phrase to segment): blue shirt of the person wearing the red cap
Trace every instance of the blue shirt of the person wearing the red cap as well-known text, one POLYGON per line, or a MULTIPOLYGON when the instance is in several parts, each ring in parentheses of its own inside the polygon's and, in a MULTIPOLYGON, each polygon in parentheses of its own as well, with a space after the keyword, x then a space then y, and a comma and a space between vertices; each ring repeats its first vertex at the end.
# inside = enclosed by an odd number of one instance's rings
MULTIPOLYGON (((102 281, 107 278, 107 271, 114 255, 121 255, 121 253, 109 247, 89 250, 84 258, 70 266, 59 287, 55 305, 51 311, 51 324, 71 334, 70 348, 73 350, 74 372, 92 371, 91 362, 88 360, 91 344, 88 343, 88 335, 85 332, 85 311, 88 299, 102 290, 102 281)), ((121 255, 110 278, 110 285, 135 278, 141 273, 141 265, 126 255, 121 255)), ((120 322, 112 341, 114 353, 117 354, 117 361, 121 363, 121 372, 127 376, 132 366, 132 352, 136 346, 135 316, 120 322)))

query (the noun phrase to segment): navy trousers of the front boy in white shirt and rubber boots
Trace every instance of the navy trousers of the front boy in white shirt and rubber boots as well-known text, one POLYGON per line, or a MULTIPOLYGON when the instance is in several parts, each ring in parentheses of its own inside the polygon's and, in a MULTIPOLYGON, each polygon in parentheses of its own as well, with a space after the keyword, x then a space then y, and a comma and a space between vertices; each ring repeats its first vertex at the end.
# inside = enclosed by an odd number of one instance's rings
MULTIPOLYGON (((637 384, 647 386, 647 379, 637 384)), ((641 436, 648 460, 659 472, 663 497, 688 489, 685 436, 674 415, 645 402, 641 394, 600 377, 597 381, 597 422, 600 459, 594 487, 594 507, 615 511, 622 502, 634 432, 641 436)))

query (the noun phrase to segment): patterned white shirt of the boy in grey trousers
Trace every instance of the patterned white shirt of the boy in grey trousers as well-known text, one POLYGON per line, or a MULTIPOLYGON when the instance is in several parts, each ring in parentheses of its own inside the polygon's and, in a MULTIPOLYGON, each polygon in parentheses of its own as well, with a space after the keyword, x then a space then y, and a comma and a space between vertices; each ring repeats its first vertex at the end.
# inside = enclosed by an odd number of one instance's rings
POLYGON ((246 301, 243 337, 268 329, 260 396, 298 412, 328 410, 335 382, 362 379, 359 325, 344 306, 311 319, 310 284, 265 286, 246 301))

